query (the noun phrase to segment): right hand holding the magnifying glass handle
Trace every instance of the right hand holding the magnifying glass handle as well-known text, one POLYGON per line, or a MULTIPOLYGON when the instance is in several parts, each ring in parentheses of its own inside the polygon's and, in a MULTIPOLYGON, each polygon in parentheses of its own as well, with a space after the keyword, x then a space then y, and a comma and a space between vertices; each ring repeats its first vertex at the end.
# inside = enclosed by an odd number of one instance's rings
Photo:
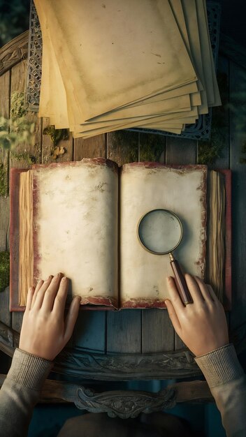
POLYGON ((167 278, 171 297, 165 299, 168 314, 180 339, 196 356, 229 343, 224 308, 211 286, 198 276, 184 275, 193 304, 184 306, 172 276, 167 278))

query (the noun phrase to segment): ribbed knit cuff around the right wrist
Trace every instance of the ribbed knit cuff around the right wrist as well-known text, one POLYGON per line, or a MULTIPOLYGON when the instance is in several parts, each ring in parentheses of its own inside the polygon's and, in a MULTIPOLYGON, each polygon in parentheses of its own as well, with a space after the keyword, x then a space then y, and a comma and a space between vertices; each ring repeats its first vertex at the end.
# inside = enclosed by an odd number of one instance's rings
POLYGON ((233 343, 195 357, 195 361, 205 376, 210 388, 229 383, 243 376, 243 371, 233 343))

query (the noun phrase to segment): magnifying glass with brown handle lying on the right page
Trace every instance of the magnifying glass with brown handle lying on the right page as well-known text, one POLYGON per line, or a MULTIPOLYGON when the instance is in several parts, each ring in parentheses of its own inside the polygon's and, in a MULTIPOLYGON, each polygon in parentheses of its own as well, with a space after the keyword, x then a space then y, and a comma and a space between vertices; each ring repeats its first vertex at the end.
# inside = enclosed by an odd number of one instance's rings
POLYGON ((144 249, 154 255, 169 253, 178 292, 183 304, 187 305, 193 303, 193 300, 178 260, 175 260, 172 253, 180 244, 182 235, 180 218, 167 209, 152 209, 138 223, 138 239, 144 249))

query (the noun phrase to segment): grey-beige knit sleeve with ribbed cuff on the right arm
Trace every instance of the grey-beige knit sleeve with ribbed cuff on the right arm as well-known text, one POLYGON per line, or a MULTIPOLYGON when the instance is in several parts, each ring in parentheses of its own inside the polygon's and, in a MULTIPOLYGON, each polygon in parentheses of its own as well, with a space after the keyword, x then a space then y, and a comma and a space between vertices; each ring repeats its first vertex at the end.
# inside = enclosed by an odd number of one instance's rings
POLYGON ((203 372, 227 437, 246 437, 246 376, 232 343, 195 358, 203 372))

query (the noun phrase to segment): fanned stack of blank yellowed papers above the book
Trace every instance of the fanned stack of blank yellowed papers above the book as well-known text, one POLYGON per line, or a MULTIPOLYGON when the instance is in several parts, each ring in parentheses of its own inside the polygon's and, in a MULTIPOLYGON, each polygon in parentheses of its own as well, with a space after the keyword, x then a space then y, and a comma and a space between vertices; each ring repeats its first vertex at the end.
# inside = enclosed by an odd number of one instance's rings
POLYGON ((181 133, 220 105, 205 0, 34 0, 39 115, 73 136, 181 133))

